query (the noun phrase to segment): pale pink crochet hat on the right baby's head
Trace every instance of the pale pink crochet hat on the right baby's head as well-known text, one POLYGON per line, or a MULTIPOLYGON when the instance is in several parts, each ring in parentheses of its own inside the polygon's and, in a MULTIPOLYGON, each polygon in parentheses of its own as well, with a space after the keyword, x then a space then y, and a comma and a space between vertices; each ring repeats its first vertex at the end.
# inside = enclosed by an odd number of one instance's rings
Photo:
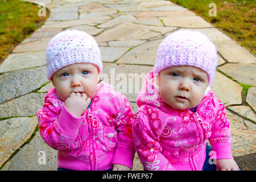
POLYGON ((217 49, 210 39, 198 31, 178 30, 168 35, 158 48, 154 73, 178 65, 201 68, 212 83, 217 67, 217 49))

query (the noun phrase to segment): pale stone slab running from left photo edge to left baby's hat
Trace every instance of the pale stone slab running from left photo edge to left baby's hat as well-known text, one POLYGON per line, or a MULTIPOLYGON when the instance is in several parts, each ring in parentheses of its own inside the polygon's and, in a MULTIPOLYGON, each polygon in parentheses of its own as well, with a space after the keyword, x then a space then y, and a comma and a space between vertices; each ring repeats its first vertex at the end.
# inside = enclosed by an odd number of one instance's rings
POLYGON ((0 65, 0 73, 46 65, 46 52, 22 52, 10 54, 0 65))

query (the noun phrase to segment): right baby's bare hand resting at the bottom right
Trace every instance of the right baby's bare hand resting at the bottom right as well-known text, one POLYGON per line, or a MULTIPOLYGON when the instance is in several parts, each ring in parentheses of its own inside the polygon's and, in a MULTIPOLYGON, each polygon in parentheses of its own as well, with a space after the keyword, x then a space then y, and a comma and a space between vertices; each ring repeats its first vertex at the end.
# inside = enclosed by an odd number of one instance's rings
POLYGON ((233 159, 217 159, 217 171, 239 171, 237 163, 233 159))

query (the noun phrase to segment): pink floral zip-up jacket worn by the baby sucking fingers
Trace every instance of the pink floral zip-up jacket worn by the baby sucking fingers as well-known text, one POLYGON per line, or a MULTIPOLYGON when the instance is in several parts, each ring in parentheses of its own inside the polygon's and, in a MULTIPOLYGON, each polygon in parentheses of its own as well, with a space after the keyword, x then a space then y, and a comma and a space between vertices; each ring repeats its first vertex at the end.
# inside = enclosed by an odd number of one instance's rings
POLYGON ((38 110, 39 131, 43 140, 58 150, 58 168, 108 170, 113 164, 133 167, 133 111, 123 94, 100 82, 90 107, 74 117, 49 89, 38 110))

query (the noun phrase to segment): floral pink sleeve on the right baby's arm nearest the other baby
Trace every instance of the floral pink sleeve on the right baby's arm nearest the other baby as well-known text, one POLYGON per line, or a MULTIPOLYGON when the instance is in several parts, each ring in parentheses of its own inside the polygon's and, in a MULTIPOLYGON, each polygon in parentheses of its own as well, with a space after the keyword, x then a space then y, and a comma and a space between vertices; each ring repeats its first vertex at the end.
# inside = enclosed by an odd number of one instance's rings
POLYGON ((161 133, 162 129, 158 127, 158 121, 150 121, 146 112, 140 108, 133 122, 133 138, 135 149, 144 169, 147 171, 176 171, 162 154, 163 148, 159 143, 161 133))

